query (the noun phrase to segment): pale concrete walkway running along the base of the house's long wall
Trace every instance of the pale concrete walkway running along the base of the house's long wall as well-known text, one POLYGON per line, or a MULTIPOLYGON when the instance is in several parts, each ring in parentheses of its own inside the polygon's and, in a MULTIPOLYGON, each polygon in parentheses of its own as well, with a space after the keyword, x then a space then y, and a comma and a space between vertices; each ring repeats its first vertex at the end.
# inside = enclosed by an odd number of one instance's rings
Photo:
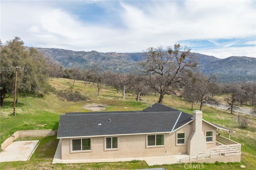
POLYGON ((188 157, 188 154, 179 154, 171 156, 152 156, 141 158, 111 158, 111 159, 77 159, 62 160, 61 159, 61 139, 58 143, 52 164, 70 164, 70 163, 92 163, 92 162, 124 162, 132 160, 145 160, 149 166, 162 164, 178 164, 180 159, 188 157))

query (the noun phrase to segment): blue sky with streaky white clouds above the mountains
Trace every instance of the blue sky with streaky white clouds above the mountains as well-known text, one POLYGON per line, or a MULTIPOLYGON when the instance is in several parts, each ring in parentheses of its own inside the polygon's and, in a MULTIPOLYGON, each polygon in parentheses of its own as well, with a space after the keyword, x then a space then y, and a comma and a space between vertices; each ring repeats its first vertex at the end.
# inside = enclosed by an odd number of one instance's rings
POLYGON ((0 0, 2 42, 74 51, 192 52, 256 57, 255 0, 0 0))

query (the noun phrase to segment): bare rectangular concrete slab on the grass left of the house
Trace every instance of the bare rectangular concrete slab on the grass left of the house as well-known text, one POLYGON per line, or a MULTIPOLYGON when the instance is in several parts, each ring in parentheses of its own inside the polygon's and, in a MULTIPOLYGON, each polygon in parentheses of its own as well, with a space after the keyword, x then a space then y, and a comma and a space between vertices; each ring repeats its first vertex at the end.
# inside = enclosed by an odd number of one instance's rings
POLYGON ((0 153, 0 162, 27 161, 38 146, 39 140, 12 142, 0 153))

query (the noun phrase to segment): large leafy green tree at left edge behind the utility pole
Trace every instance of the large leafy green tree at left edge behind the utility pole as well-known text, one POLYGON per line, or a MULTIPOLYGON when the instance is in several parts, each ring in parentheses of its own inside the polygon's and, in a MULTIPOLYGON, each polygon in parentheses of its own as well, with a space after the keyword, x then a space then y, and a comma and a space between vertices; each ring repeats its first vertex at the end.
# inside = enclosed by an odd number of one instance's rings
MULTIPOLYGON (((46 93, 50 89, 47 83, 48 71, 46 57, 35 48, 26 49, 24 42, 15 37, 7 41, 0 48, 0 67, 23 67, 24 71, 18 71, 17 94, 46 93)), ((0 105, 4 105, 4 99, 14 93, 15 70, 0 72, 0 105)))

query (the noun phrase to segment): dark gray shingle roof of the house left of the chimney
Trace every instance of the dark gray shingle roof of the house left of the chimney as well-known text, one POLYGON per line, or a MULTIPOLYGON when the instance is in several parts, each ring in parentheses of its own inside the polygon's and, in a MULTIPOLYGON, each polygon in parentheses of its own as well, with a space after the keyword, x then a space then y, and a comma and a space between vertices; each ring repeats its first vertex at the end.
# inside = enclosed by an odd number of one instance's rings
POLYGON ((143 111, 66 113, 60 116, 57 138, 170 132, 192 121, 188 113, 179 115, 159 103, 143 111))

